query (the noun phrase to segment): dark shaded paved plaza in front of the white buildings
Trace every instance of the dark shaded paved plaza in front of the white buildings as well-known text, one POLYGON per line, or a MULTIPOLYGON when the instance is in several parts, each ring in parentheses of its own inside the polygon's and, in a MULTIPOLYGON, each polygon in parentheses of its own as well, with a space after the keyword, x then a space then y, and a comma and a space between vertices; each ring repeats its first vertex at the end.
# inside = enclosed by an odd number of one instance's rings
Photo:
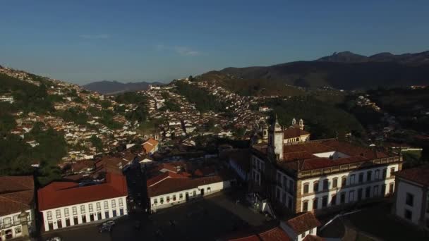
POLYGON ((215 240, 248 225, 262 225, 265 216, 236 204, 235 192, 219 193, 196 202, 164 209, 148 216, 136 212, 121 218, 111 233, 98 233, 97 226, 61 230, 44 235, 58 235, 63 240, 215 240), (141 228, 136 230, 135 221, 141 228))

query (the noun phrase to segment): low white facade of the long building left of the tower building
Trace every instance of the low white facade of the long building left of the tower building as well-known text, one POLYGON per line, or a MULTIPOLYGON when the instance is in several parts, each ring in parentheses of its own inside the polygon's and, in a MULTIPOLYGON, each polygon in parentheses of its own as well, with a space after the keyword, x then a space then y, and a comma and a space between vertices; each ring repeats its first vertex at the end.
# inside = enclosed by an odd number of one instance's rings
POLYGON ((201 190, 204 189, 204 195, 212 194, 215 192, 220 192, 225 188, 231 187, 231 182, 229 180, 222 181, 219 183, 210 183, 207 185, 201 185, 197 188, 192 188, 189 190, 182 190, 180 192, 171 192, 169 194, 163 194, 156 197, 150 197, 150 209, 155 211, 157 209, 164 209, 170 206, 174 206, 176 204, 181 204, 186 202, 186 192, 189 194, 189 200, 195 199, 197 197, 201 197, 201 190), (195 191, 195 195, 194 195, 195 191), (180 194, 182 194, 182 198, 180 198, 180 194), (174 201, 174 195, 176 195, 176 201, 174 201), (161 198, 164 199, 164 203, 161 203, 161 198), (167 202, 167 198, 169 198, 169 202, 167 202), (155 202, 156 201, 156 202, 155 202))

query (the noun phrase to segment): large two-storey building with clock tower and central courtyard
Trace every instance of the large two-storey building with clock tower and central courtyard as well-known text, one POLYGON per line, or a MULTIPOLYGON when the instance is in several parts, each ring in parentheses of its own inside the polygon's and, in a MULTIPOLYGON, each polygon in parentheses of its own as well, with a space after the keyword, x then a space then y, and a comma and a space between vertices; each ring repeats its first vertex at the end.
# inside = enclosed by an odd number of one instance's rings
POLYGON ((276 120, 251 163, 255 189, 299 213, 392 194, 402 159, 334 139, 286 144, 276 120))

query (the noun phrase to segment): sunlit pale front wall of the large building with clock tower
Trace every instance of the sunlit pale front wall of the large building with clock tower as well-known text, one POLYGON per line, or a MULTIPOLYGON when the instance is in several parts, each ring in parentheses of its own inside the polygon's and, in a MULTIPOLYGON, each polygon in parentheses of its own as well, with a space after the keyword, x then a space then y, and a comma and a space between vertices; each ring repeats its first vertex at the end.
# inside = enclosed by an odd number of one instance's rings
POLYGON ((381 190, 382 190, 382 185, 385 184, 386 185, 386 190, 384 194, 388 194, 389 193, 389 185, 390 183, 394 183, 394 178, 391 179, 382 179, 382 170, 387 168, 387 175, 386 178, 390 178, 392 177, 392 173, 391 173, 391 168, 394 168, 394 171, 398 171, 399 168, 399 164, 395 163, 395 164, 391 164, 388 166, 378 166, 376 168, 368 168, 368 169, 362 169, 362 170, 356 170, 356 171, 347 171, 344 173, 337 173, 334 175, 327 175, 325 177, 318 177, 318 178, 308 178, 306 180, 302 180, 301 182, 301 194, 304 195, 304 197, 302 197, 301 199, 301 211, 304 211, 303 209, 303 203, 304 202, 308 202, 308 210, 307 211, 311 211, 313 210, 313 199, 315 199, 316 197, 318 198, 318 209, 322 208, 322 197, 327 196, 327 206, 331 206, 331 202, 332 202, 332 195, 337 194, 337 202, 336 205, 340 204, 340 197, 341 197, 341 193, 345 192, 345 203, 350 203, 350 202, 357 202, 358 201, 358 190, 362 189, 362 199, 365 199, 365 190, 367 187, 371 188, 370 191, 370 197, 377 197, 382 195, 381 190), (378 170, 380 172, 380 179, 379 180, 375 180, 375 171, 378 170), (372 175, 371 175, 371 180, 367 181, 367 173, 368 171, 372 171, 372 175), (363 173, 363 182, 362 183, 358 183, 358 178, 359 178, 359 173, 363 173), (352 175, 354 175, 354 182, 353 182, 353 178, 352 175), (346 186, 342 187, 342 177, 346 177, 346 186), (338 178, 337 180, 337 187, 334 188, 332 187, 332 182, 334 180, 334 178, 338 178), (328 190, 327 191, 323 191, 323 180, 328 180, 329 184, 328 184, 328 190), (314 190, 314 182, 318 181, 319 182, 319 192, 313 192, 314 190), (306 185, 308 183, 308 194, 304 193, 304 185, 306 185), (375 188, 376 187, 376 188, 375 188), (351 198, 351 194, 350 192, 354 191, 353 194, 353 199, 351 198))

